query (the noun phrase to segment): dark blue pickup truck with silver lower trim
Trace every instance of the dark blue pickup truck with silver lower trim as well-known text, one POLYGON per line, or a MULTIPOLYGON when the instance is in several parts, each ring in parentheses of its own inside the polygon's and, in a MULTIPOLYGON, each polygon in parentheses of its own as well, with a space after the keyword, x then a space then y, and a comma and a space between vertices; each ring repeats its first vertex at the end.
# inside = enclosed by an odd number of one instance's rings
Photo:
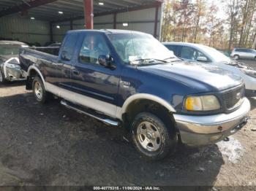
POLYGON ((152 160, 178 140, 200 146, 225 139, 246 124, 250 110, 241 77, 181 61, 135 31, 69 31, 59 55, 22 48, 20 66, 37 101, 53 94, 69 109, 124 126, 152 160))

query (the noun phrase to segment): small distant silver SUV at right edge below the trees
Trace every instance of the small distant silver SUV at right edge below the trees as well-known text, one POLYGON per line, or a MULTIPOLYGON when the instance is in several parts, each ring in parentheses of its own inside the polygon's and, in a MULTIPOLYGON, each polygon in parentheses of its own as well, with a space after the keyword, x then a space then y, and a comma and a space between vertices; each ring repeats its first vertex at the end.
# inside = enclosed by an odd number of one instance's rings
POLYGON ((239 58, 254 59, 256 61, 256 50, 246 48, 234 48, 230 57, 238 60, 239 58))

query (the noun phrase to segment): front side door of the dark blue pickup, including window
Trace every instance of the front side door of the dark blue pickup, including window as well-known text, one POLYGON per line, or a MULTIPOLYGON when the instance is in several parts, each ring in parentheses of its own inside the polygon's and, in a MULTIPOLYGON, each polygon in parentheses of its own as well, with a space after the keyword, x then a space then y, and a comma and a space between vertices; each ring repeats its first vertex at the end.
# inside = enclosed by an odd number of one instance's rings
MULTIPOLYGON (((112 55, 105 34, 88 32, 80 36, 77 60, 71 71, 72 89, 76 93, 108 104, 117 104, 120 67, 113 59, 115 69, 99 65, 99 55, 112 55)), ((86 101, 84 101, 86 105, 86 101)), ((89 103, 91 104, 91 103, 89 103)), ((104 107, 104 105, 102 105, 104 107)))

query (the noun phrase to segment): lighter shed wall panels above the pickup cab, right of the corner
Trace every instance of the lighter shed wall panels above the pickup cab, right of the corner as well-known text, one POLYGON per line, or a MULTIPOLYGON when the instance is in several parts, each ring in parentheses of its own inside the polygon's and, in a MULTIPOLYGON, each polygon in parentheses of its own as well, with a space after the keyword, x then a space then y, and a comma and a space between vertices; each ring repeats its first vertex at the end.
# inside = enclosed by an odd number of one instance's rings
MULTIPOLYGON (((121 12, 116 15, 116 28, 142 31, 154 35, 154 19, 156 8, 142 9, 133 12, 121 12), (128 26, 123 26, 123 23, 128 23, 128 26)), ((157 38, 159 38, 159 26, 161 20, 161 8, 159 7, 158 23, 157 23, 157 38)), ((94 17, 94 28, 113 28, 114 15, 104 15, 94 17)), ((74 20, 73 29, 84 29, 84 20, 74 20)), ((66 31, 70 30, 70 23, 55 23, 53 25, 53 40, 61 42, 66 31), (60 28, 56 28, 60 26, 60 28)))

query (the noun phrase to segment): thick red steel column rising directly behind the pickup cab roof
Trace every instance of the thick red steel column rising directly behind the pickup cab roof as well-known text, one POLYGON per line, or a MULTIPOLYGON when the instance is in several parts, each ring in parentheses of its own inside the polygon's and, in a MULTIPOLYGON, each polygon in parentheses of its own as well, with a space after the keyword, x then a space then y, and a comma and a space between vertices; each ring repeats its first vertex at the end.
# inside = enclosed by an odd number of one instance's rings
POLYGON ((94 29, 94 0, 83 0, 85 28, 94 29))

